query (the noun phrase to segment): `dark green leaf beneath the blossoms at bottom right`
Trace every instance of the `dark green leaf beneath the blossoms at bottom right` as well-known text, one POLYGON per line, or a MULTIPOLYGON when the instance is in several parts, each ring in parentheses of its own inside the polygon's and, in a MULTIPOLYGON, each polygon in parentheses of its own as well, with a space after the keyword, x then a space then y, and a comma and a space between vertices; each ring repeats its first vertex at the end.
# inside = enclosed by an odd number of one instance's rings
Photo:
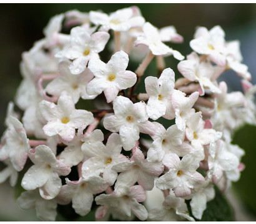
MULTIPOLYGON (((187 203, 187 207, 189 209, 189 214, 193 217, 190 207, 190 200, 185 200, 187 203)), ((195 218, 195 217, 194 217, 195 218)), ((204 211, 201 220, 196 221, 203 221, 203 222, 232 222, 234 221, 233 211, 227 202, 225 196, 220 192, 220 190, 215 186, 215 198, 207 203, 207 208, 204 211)))

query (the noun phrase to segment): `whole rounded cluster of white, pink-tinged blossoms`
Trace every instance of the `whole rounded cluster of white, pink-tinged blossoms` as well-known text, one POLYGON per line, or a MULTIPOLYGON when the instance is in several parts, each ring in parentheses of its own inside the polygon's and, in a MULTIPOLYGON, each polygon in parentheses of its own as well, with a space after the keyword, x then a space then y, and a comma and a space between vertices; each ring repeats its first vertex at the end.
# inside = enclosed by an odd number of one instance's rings
POLYGON ((186 58, 165 44, 183 41, 175 28, 157 29, 135 6, 59 14, 44 35, 22 54, 15 102, 24 113, 9 103, 1 138, 0 182, 14 186, 22 175, 21 208, 36 208, 45 221, 69 203, 102 221, 193 221, 215 185, 225 191, 239 179, 244 150, 232 136, 256 124, 256 86, 239 41, 227 42, 220 26, 198 27, 186 58), (165 68, 169 56, 183 78, 165 68), (154 77, 146 70, 153 58, 154 77), (140 60, 134 72, 129 60, 140 60), (226 70, 244 93, 217 81, 226 70))

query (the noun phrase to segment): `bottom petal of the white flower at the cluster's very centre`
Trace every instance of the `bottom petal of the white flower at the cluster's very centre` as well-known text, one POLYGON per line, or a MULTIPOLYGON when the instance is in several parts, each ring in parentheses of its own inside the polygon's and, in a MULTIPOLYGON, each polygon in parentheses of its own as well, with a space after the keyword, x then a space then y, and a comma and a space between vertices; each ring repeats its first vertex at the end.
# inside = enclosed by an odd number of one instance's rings
POLYGON ((135 146, 136 141, 139 140, 139 128, 137 126, 121 126, 119 134, 124 150, 129 151, 135 146))

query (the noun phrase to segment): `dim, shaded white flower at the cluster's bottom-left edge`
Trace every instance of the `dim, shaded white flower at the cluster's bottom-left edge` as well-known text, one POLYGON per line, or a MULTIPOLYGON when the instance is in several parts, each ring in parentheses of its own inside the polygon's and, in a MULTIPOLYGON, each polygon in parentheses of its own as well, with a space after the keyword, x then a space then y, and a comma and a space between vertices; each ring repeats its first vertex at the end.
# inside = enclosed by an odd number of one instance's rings
POLYGON ((55 221, 57 216, 57 202, 45 200, 40 196, 38 190, 22 192, 17 198, 17 204, 24 210, 36 208, 36 216, 46 222, 55 221))

